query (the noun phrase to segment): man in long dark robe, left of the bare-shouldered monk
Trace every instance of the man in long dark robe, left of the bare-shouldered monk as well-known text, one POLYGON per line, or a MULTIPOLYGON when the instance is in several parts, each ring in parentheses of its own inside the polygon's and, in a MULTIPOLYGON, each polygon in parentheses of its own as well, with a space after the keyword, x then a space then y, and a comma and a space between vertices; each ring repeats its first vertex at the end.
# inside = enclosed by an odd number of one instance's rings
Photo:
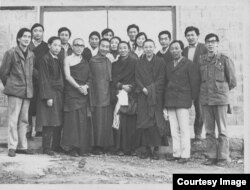
POLYGON ((39 64, 36 123, 43 126, 43 153, 54 155, 61 152, 61 125, 63 114, 63 75, 58 54, 61 40, 51 37, 48 40, 49 52, 39 64))

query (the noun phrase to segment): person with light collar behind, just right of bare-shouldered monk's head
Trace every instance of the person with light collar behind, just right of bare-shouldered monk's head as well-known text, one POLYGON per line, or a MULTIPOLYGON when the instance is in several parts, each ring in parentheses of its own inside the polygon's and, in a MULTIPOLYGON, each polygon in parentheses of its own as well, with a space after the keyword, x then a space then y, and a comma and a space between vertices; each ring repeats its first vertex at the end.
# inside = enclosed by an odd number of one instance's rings
POLYGON ((90 48, 87 48, 87 47, 84 48, 82 52, 83 59, 89 62, 91 57, 96 56, 96 54, 98 53, 98 49, 99 49, 98 47, 99 47, 100 39, 101 39, 101 36, 99 32, 93 31, 90 33, 89 35, 90 48))

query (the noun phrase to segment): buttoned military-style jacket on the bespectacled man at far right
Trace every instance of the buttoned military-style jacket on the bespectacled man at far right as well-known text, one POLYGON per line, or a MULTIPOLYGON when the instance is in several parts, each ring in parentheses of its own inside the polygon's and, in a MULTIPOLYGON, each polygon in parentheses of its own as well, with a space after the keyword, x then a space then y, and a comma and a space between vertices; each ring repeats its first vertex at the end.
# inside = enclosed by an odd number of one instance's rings
POLYGON ((220 53, 213 58, 206 54, 201 56, 199 70, 201 105, 229 104, 229 90, 236 87, 232 60, 220 53))

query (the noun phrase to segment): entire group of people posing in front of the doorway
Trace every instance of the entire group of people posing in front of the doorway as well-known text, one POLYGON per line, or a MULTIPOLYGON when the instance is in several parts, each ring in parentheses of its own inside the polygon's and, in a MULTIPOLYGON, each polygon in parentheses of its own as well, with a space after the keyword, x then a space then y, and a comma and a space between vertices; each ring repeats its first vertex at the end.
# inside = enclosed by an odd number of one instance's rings
POLYGON ((204 164, 224 165, 229 157, 226 114, 229 90, 236 86, 234 65, 218 52, 219 37, 198 42, 199 29, 185 30, 188 46, 158 35, 161 49, 132 24, 129 41, 107 28, 69 43, 67 27, 43 41, 44 27, 22 28, 17 46, 3 57, 0 78, 8 96, 8 155, 31 154, 27 139, 42 136, 43 153, 88 156, 112 151, 159 159, 159 146, 172 138, 168 161, 190 158, 189 109, 194 104, 195 140, 206 127, 204 164), (36 116, 34 122, 34 116, 36 116), (170 129, 168 129, 168 122, 170 129), (35 123, 35 125, 34 125, 35 123), (218 127, 218 144, 215 136, 218 127), (170 134, 169 134, 170 133, 170 134))

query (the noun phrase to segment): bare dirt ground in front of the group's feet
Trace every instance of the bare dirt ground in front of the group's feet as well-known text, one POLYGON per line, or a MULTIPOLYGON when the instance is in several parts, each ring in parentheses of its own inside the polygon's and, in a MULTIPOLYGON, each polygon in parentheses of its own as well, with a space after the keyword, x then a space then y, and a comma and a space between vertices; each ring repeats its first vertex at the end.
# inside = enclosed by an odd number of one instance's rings
POLYGON ((70 157, 58 154, 7 156, 0 147, 0 184, 171 184, 173 173, 243 173, 243 158, 226 167, 204 166, 205 157, 192 154, 186 164, 138 157, 100 155, 70 157))

